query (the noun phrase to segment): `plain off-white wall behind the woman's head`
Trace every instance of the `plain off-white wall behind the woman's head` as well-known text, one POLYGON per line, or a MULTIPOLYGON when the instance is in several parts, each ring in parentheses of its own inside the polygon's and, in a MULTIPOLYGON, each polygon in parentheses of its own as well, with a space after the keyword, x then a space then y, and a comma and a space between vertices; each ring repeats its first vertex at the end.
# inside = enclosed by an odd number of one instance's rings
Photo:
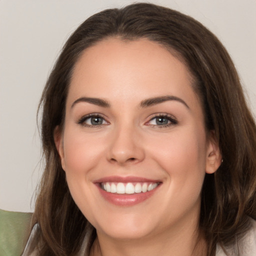
MULTIPOLYGON (((89 15, 130 2, 0 0, 0 208, 33 210, 31 198, 41 173, 36 108, 63 42, 89 15)), ((256 1, 149 2, 193 16, 220 38, 256 114, 256 1)))

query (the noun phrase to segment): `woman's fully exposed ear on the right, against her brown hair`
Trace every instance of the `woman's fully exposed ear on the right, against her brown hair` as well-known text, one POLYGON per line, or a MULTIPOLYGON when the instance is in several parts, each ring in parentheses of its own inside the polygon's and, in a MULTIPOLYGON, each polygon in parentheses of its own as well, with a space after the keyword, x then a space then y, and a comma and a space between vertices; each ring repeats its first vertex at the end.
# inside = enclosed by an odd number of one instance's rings
POLYGON ((220 166, 222 155, 218 146, 214 130, 211 130, 208 137, 208 146, 206 152, 205 172, 214 173, 220 166))

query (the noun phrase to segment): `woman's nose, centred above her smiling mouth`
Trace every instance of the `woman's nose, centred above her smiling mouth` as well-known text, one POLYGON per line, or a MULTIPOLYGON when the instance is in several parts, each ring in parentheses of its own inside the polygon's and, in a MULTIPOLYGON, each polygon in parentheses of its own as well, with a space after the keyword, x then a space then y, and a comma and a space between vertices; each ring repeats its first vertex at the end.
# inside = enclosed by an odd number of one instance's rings
POLYGON ((140 136, 133 127, 119 127, 110 138, 107 158, 110 162, 124 165, 144 159, 145 153, 140 136))

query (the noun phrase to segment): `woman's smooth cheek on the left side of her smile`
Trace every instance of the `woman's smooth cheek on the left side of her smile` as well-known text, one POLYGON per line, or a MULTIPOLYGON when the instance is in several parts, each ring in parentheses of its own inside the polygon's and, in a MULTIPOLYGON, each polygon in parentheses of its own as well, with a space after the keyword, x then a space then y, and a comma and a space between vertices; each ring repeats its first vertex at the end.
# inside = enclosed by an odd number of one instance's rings
MULTIPOLYGON (((65 175, 69 191, 76 205, 86 216, 90 214, 87 207, 95 201, 91 193, 91 173, 98 161, 100 143, 83 132, 66 127, 63 134, 63 152, 65 175), (85 196, 87 195, 87 196, 85 196), (88 211, 88 212, 87 212, 88 211)), ((91 207, 88 207, 91 208, 91 207)))

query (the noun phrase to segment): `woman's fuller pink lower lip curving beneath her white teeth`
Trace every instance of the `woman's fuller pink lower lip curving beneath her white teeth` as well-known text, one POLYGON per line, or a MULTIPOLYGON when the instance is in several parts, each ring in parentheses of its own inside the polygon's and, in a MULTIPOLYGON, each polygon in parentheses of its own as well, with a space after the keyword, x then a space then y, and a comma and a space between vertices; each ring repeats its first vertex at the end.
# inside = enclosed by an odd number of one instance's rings
POLYGON ((160 184, 154 189, 147 192, 134 193, 134 194, 116 194, 116 193, 107 192, 103 190, 99 184, 97 185, 99 192, 103 196, 103 198, 109 201, 110 203, 118 206, 132 206, 140 202, 143 202, 146 199, 148 199, 150 196, 152 196, 159 186, 160 184))

